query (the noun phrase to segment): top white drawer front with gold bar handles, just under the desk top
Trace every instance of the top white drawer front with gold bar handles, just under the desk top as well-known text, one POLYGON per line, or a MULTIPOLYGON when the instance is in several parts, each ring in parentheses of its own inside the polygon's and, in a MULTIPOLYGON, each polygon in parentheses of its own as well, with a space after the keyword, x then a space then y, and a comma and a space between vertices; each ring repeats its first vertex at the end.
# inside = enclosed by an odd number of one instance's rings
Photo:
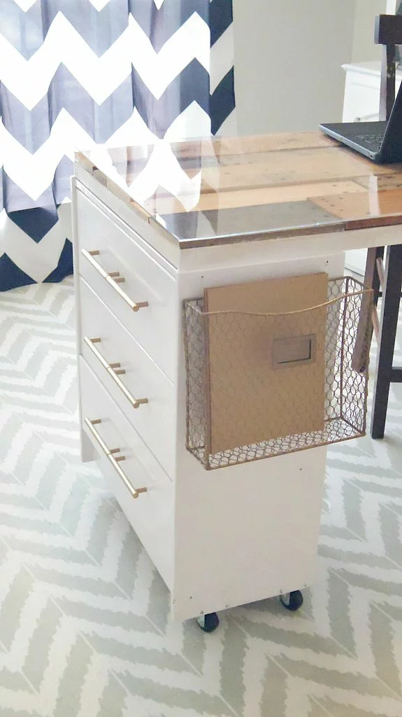
POLYGON ((76 197, 79 274, 173 380, 174 277, 81 191, 76 197))

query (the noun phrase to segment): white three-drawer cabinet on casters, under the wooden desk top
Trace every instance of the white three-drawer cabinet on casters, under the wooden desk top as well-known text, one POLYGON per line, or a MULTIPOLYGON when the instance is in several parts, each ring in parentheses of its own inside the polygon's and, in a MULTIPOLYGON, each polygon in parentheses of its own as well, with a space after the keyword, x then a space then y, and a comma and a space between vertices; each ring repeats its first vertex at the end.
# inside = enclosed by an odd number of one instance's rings
MULTIPOLYGON (((309 270, 339 275, 343 255, 289 260, 286 249, 278 263, 270 258, 277 242, 218 242, 188 252, 180 247, 177 269, 169 272, 171 245, 158 262, 158 242, 149 244, 157 229, 146 214, 140 236, 141 213, 133 212, 132 227, 129 212, 122 212, 124 222, 119 217, 121 191, 106 191, 91 170, 77 169, 73 217, 83 460, 99 461, 170 589, 173 618, 303 587, 313 575, 325 448, 204 470, 185 448, 182 306, 202 296, 205 286, 309 270), (275 535, 282 543, 281 560, 275 535)), ((214 214, 207 219, 212 226, 214 214)), ((190 223, 197 228, 196 221, 190 223)), ((159 245, 165 234, 161 229, 159 245)))

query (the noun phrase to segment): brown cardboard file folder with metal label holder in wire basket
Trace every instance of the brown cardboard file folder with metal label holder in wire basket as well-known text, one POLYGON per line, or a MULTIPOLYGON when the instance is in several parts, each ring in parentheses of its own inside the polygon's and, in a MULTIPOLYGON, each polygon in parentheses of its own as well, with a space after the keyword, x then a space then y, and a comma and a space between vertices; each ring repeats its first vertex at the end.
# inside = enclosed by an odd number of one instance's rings
POLYGON ((327 293, 325 273, 205 289, 207 453, 324 429, 327 293))

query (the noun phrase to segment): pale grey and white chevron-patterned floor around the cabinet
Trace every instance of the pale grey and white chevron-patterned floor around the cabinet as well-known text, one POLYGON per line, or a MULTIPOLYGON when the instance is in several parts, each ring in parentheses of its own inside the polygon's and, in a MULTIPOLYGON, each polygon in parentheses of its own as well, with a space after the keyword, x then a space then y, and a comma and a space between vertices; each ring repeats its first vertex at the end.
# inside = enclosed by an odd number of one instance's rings
POLYGON ((329 450, 301 611, 205 635, 79 461, 71 279, 1 295, 0 366, 1 717, 401 717, 401 385, 386 440, 329 450))

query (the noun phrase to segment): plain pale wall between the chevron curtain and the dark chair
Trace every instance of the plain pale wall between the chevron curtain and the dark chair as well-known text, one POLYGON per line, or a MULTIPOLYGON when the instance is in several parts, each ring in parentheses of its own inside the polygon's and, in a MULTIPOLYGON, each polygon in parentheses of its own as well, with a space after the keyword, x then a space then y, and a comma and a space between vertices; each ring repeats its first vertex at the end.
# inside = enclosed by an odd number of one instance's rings
POLYGON ((371 60, 386 0, 233 0, 240 134, 342 118, 345 62, 371 60))

